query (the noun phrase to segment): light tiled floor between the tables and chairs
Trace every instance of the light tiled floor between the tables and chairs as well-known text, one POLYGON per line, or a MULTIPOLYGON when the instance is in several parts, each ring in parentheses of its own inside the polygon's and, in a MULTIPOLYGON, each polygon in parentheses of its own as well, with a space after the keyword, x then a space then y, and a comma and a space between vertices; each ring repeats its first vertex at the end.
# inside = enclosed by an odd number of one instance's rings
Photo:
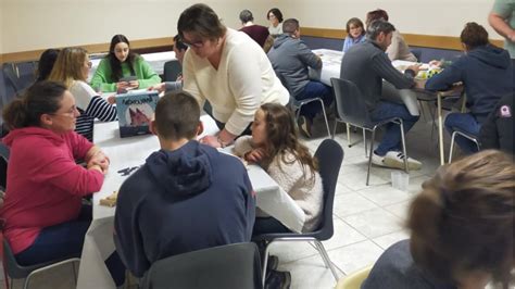
MULTIPOLYGON (((314 128, 321 138, 305 140, 313 152, 326 137, 324 125, 318 121, 314 128)), ((344 126, 340 126, 343 130, 344 126)), ((337 135, 336 140, 344 150, 344 160, 335 197, 335 235, 324 241, 324 246, 340 277, 374 263, 390 244, 407 238, 403 221, 410 200, 439 165, 437 139, 430 139, 430 123, 420 117, 407 135, 409 154, 424 163, 420 171, 410 173, 407 192, 391 187, 391 169, 387 168, 373 167, 370 186, 365 186, 367 159, 361 130, 352 134, 355 144, 351 148, 348 148, 344 134, 337 135)), ((277 243, 272 252, 279 256, 279 269, 291 272, 291 288, 334 288, 336 285, 313 246, 304 242, 277 243)), ((72 268, 65 266, 42 273, 32 284, 32 288, 73 288, 72 268)), ((16 288, 21 288, 21 284, 16 288)))

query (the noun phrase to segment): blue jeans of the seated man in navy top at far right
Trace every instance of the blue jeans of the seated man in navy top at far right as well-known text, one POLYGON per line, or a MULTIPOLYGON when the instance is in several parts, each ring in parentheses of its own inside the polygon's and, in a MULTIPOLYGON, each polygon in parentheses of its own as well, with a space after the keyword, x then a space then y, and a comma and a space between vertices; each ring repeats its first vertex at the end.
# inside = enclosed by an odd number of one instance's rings
MULTIPOLYGON (((476 117, 470 113, 451 113, 445 117, 445 129, 451 136, 454 130, 459 129, 467 135, 477 137, 479 136, 481 124, 479 124, 476 117)), ((477 146, 473 141, 462 136, 456 136, 455 141, 464 153, 470 154, 477 152, 477 146)))

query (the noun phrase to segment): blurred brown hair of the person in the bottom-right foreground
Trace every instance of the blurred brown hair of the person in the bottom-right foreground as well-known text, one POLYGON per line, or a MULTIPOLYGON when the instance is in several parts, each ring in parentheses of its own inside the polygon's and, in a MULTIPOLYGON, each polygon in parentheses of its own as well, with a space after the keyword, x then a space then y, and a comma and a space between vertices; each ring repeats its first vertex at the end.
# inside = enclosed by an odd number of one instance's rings
MULTIPOLYGON (((437 279, 481 271, 507 285, 514 264, 515 164, 487 150, 440 167, 410 208, 411 252, 437 279)), ((507 288, 507 287, 506 287, 507 288)))

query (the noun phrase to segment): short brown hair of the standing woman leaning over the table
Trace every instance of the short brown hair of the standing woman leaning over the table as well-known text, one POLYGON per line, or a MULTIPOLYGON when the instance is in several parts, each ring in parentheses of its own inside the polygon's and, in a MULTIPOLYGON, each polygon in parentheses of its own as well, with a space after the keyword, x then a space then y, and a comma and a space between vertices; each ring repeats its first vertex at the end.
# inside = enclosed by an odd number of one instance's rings
POLYGON ((193 33, 205 39, 216 39, 223 37, 227 28, 209 5, 194 4, 180 13, 177 30, 180 38, 184 33, 193 33))

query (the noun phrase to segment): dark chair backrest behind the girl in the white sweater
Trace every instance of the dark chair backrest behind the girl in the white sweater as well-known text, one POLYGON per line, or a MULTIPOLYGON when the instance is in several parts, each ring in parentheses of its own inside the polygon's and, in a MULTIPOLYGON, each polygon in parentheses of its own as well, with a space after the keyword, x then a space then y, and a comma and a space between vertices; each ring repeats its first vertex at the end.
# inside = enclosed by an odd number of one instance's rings
POLYGON ((343 161, 343 149, 332 140, 325 139, 322 141, 315 155, 318 160, 318 168, 324 186, 324 208, 323 218, 315 233, 318 240, 328 240, 332 237, 332 204, 335 201, 336 184, 340 173, 341 162, 343 161))

